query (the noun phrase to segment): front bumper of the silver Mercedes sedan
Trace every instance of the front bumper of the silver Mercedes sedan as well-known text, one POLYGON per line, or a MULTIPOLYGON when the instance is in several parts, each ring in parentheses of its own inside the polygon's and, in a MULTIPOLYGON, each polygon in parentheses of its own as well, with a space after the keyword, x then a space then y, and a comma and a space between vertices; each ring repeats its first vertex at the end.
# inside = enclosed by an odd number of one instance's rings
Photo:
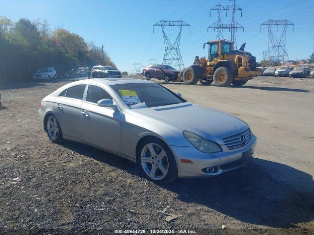
POLYGON ((194 147, 170 147, 176 158, 179 178, 194 178, 220 175, 247 164, 247 162, 241 162, 242 153, 250 149, 254 153, 256 142, 257 138, 253 135, 251 141, 242 148, 230 151, 225 145, 221 145, 222 152, 211 154, 203 153, 194 147), (193 163, 183 163, 181 159, 190 160, 193 163), (215 166, 217 170, 214 173, 205 173, 202 171, 202 169, 210 166, 215 166))

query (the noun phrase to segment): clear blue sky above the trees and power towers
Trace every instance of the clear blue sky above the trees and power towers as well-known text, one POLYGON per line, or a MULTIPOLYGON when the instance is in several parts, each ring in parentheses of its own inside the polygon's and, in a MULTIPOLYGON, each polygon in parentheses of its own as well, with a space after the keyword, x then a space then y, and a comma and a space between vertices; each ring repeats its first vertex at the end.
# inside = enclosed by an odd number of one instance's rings
MULTIPOLYGON (((217 13, 209 15, 216 4, 232 4, 229 0, 0 0, 0 16, 18 21, 47 19, 51 29, 62 26, 82 36, 86 41, 104 45, 105 51, 121 71, 134 69, 133 63, 149 64, 149 59, 162 63, 164 41, 160 27, 153 33, 153 24, 160 20, 183 20, 180 50, 184 66, 194 57, 207 55, 203 43, 216 39, 216 32, 207 30, 217 20, 217 13)), ((309 58, 314 52, 314 0, 235 0, 242 8, 235 20, 244 27, 236 32, 237 47, 246 43, 245 50, 262 59, 268 48, 267 27, 260 25, 269 20, 288 19, 286 47, 290 60, 309 58)), ((231 12, 221 13, 228 24, 231 12)), ((167 29, 170 40, 177 36, 177 28, 167 29)), ((281 28, 274 28, 278 36, 281 28)), ((223 31, 228 38, 229 32, 223 31)))

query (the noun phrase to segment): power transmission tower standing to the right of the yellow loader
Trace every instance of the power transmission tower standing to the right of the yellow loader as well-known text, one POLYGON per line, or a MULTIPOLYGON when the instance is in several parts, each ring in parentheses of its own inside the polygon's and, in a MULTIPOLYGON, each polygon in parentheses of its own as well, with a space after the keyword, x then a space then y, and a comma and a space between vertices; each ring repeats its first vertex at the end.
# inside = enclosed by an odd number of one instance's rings
POLYGON ((289 25, 293 26, 294 24, 289 20, 268 20, 261 24, 262 26, 267 25, 268 28, 268 51, 267 58, 273 64, 275 62, 285 62, 285 57, 288 57, 287 49, 286 49, 286 37, 287 37, 287 28, 289 25), (277 26, 277 33, 279 33, 279 27, 282 27, 282 31, 280 37, 276 37, 273 32, 273 27, 277 26))

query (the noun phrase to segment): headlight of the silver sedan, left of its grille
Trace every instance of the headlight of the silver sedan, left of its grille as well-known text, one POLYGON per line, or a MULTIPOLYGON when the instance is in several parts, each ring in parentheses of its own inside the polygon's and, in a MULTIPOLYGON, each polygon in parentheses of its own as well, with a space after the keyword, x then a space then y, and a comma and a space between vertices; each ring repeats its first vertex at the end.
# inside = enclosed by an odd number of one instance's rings
POLYGON ((184 137, 198 150, 204 153, 217 153, 221 152, 222 149, 219 146, 219 144, 213 142, 213 141, 207 141, 204 140, 202 137, 189 132, 189 131, 183 131, 184 137))

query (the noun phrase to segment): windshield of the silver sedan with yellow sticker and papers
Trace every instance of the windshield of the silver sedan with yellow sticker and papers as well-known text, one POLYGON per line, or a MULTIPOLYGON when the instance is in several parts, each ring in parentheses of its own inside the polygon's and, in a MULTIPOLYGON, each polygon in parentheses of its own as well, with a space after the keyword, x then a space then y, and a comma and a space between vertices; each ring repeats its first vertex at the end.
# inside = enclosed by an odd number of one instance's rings
POLYGON ((110 87, 132 109, 186 102, 183 98, 155 83, 126 83, 110 87))

